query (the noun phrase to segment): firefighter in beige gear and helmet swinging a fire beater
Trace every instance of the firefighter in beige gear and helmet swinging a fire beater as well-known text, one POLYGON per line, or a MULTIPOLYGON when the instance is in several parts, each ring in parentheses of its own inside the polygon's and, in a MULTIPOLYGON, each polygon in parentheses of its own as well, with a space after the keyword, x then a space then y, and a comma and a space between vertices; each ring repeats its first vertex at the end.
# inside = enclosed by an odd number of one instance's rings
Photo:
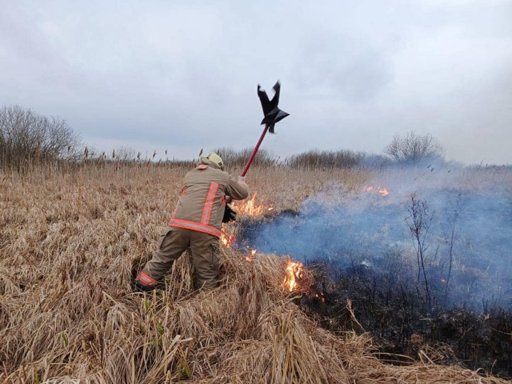
POLYGON ((220 277, 219 240, 223 221, 235 213, 226 206, 249 195, 245 177, 238 181, 224 172, 223 160, 210 153, 183 179, 181 198, 161 235, 151 260, 134 281, 136 289, 150 291, 189 247, 196 272, 196 287, 212 289, 220 277), (226 219, 225 216, 228 215, 226 219))

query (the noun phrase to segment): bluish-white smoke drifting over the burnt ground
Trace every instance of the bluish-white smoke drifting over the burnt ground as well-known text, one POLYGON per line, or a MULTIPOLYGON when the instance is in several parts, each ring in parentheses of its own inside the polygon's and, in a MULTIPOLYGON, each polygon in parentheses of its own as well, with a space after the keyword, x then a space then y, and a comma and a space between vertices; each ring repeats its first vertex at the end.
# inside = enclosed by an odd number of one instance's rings
POLYGON ((415 196, 427 209, 420 239, 427 280, 439 300, 448 280, 452 306, 512 306, 510 181, 507 169, 441 164, 389 169, 358 191, 330 183, 306 198, 299 212, 281 213, 246 230, 244 241, 260 252, 325 262, 336 271, 365 267, 390 274, 392 258, 405 270, 396 279, 420 285, 410 230, 415 196))

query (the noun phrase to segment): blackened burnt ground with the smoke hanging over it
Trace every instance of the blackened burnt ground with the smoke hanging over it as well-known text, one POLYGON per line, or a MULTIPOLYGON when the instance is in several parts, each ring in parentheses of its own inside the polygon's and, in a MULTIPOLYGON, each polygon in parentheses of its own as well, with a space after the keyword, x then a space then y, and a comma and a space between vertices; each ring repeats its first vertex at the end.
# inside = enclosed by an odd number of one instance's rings
POLYGON ((326 329, 368 331, 383 353, 429 351, 511 378, 510 171, 494 169, 492 184, 475 169, 437 172, 402 169, 359 191, 326 184, 298 210, 241 225, 242 245, 315 271, 300 303, 326 329), (386 194, 375 193, 381 186, 386 194))

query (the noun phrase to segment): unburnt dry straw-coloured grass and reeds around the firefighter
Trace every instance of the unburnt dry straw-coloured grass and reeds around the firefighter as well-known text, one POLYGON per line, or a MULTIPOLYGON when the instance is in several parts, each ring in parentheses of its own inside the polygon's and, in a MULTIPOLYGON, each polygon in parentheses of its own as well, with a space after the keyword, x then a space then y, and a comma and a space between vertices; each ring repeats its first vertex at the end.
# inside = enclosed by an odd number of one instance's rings
MULTIPOLYGON (((165 287, 134 293, 188 168, 83 166, 0 174, 1 383, 506 383, 427 354, 375 358, 369 336, 333 334, 282 287, 284 260, 223 249, 226 274, 196 292, 188 256, 165 287)), ((230 169, 238 174, 239 169, 230 169)), ((365 171, 251 169, 274 210, 365 171)))

